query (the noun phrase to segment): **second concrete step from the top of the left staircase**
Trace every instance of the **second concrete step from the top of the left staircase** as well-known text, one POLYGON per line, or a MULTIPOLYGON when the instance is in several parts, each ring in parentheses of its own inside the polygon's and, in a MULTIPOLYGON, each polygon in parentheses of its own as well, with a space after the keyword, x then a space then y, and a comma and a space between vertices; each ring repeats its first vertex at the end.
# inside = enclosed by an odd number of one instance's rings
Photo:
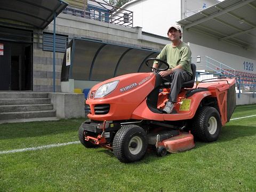
POLYGON ((50 104, 49 98, 23 98, 23 99, 0 99, 0 106, 3 105, 35 105, 50 104))

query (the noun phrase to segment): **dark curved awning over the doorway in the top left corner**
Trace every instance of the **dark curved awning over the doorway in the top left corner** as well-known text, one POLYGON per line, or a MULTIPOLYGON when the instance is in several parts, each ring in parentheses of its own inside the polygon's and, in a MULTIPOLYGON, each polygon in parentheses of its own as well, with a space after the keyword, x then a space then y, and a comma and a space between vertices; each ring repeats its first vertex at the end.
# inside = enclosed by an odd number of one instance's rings
POLYGON ((44 29, 66 6, 61 0, 1 0, 0 19, 44 29))

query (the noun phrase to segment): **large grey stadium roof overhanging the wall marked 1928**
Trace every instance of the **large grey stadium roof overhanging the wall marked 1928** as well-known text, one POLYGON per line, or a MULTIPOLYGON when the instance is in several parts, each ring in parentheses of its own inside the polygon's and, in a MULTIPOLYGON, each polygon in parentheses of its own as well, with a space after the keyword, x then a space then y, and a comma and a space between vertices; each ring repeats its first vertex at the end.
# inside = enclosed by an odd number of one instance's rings
POLYGON ((226 0, 178 21, 194 30, 245 49, 256 50, 256 0, 226 0))

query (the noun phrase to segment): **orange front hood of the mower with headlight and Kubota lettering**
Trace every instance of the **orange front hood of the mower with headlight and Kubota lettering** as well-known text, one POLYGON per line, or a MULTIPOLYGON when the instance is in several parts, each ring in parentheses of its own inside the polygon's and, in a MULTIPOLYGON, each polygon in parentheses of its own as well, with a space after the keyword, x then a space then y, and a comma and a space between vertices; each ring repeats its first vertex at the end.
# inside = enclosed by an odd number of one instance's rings
POLYGON ((90 106, 88 117, 97 121, 130 119, 137 106, 155 88, 155 81, 154 73, 134 73, 93 86, 86 100, 90 106))

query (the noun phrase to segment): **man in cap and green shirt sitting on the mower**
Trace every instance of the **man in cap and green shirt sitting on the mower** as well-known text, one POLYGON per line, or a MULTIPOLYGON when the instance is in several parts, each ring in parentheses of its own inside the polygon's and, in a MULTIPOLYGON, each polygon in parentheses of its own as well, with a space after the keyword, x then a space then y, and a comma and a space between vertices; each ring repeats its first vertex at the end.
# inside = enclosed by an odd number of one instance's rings
MULTIPOLYGON (((181 41, 180 26, 172 25, 167 31, 167 35, 172 43, 165 45, 157 59, 166 60, 170 65, 169 70, 160 71, 159 75, 172 82, 169 101, 167 101, 163 109, 164 113, 171 114, 183 82, 190 81, 193 72, 190 67, 191 51, 189 46, 181 41)), ((154 61, 153 68, 158 68, 157 61, 154 61)))

